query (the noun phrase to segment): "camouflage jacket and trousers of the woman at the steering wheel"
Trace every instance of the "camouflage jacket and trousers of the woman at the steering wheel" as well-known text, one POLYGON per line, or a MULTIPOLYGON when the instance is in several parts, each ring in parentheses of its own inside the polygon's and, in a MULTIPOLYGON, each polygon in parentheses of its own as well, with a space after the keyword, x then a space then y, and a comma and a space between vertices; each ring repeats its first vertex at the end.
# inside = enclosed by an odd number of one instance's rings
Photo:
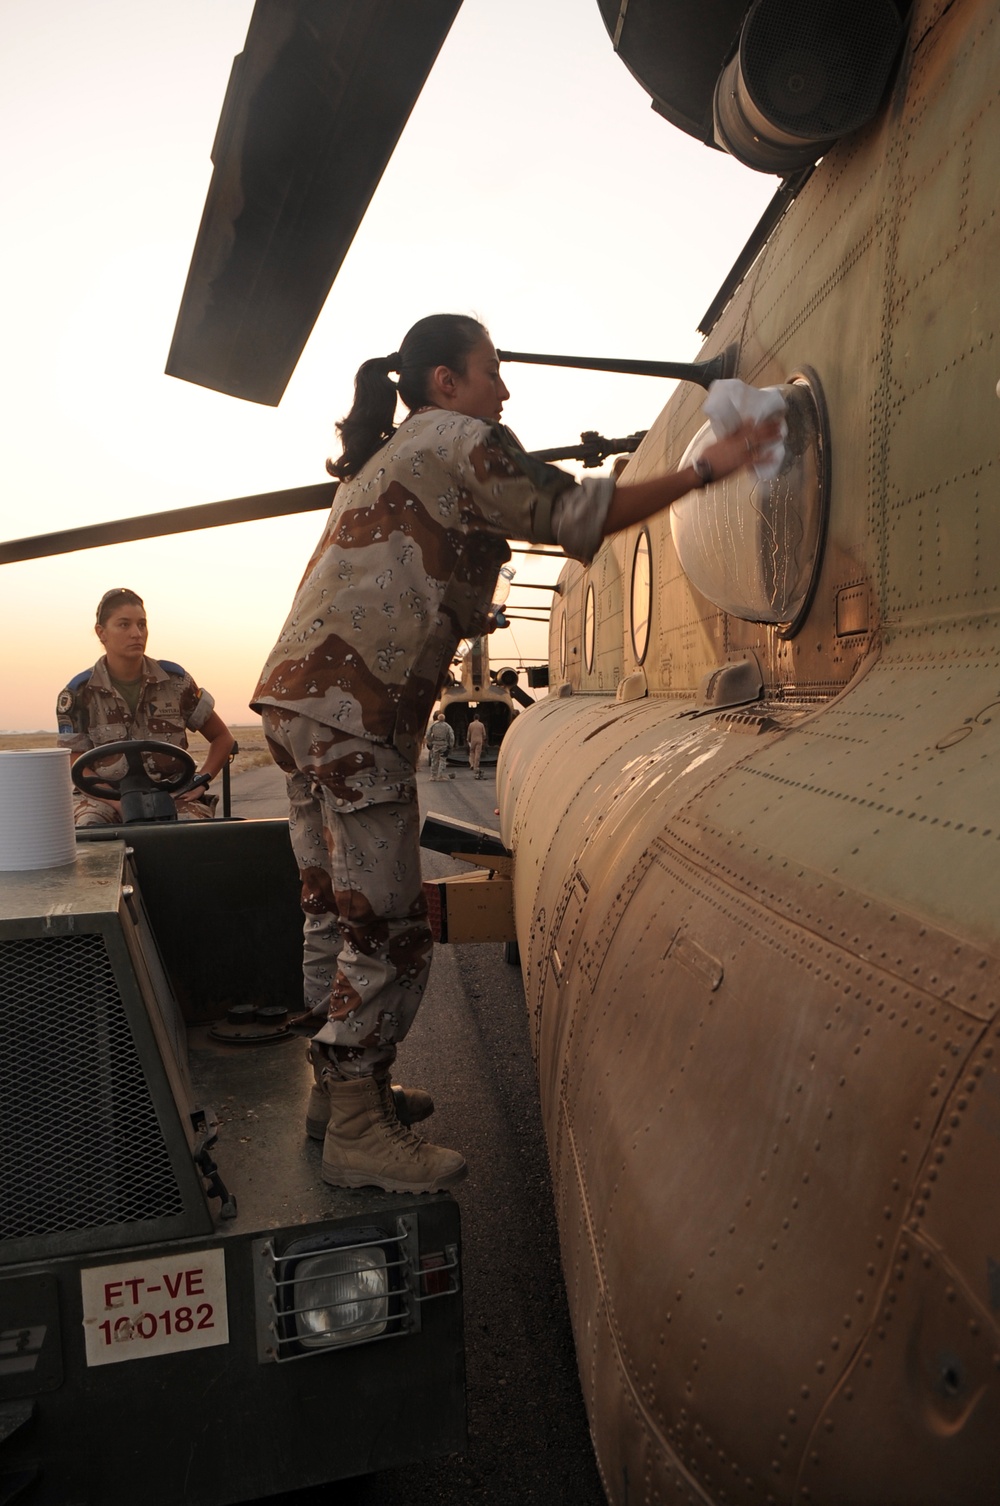
MULTIPOLYGON (((215 709, 215 702, 206 690, 199 690, 187 670, 172 664, 170 660, 143 657, 143 679, 133 717, 111 685, 107 657, 101 657, 93 669, 75 675, 56 702, 57 745, 69 748, 74 759, 104 742, 133 742, 143 738, 187 748, 185 729, 199 732, 215 709)), ((143 762, 154 776, 176 773, 176 764, 166 758, 157 759, 148 755, 143 762)), ((98 765, 95 773, 117 779, 125 773, 125 762, 108 759, 107 768, 98 765)), ((176 804, 181 821, 211 821, 218 797, 178 800, 176 804)), ((122 819, 113 801, 84 795, 75 788, 72 813, 78 827, 113 827, 122 819)))

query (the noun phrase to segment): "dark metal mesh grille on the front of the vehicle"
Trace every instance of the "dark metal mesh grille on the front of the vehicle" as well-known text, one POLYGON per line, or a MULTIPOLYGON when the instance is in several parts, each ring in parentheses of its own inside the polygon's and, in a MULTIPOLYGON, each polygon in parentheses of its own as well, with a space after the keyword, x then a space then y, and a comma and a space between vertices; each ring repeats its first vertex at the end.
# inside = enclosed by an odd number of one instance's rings
POLYGON ((0 1238, 184 1211, 99 935, 0 941, 0 1238))

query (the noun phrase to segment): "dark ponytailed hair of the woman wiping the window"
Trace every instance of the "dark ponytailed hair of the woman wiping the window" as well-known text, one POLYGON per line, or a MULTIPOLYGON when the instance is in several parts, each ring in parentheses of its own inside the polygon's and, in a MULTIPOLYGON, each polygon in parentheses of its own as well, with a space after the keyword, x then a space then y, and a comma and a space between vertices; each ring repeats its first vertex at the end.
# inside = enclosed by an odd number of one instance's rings
POLYGON ((468 352, 486 330, 465 313, 431 313, 407 330, 393 355, 364 361, 354 378, 354 407, 337 423, 343 453, 327 461, 327 470, 340 480, 357 476, 361 465, 392 440, 396 396, 413 411, 428 401, 428 378, 435 366, 465 375, 468 352), (399 383, 390 372, 399 372, 399 383))

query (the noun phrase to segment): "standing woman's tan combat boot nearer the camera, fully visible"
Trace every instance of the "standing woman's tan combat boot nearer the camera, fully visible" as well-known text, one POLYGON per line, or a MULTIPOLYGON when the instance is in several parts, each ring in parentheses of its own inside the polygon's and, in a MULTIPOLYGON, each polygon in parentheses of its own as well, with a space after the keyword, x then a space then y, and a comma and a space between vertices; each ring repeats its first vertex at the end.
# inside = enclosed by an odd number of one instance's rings
POLYGON ((401 1123, 387 1077, 325 1078, 330 1122, 322 1179, 331 1187, 437 1193, 465 1175, 458 1151, 429 1145, 401 1123))

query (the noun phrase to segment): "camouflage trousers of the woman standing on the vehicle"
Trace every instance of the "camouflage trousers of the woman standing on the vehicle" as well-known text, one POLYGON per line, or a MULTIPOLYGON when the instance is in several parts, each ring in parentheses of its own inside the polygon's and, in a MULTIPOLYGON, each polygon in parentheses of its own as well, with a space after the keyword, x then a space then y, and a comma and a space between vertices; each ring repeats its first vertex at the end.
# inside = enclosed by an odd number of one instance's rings
POLYGON ((395 1060, 431 968, 413 771, 395 750, 378 748, 395 768, 386 780, 373 773, 361 797, 370 803, 358 810, 328 729, 268 706, 262 720, 288 785, 306 1008, 327 1017, 315 1039, 342 1077, 366 1077, 395 1060))

